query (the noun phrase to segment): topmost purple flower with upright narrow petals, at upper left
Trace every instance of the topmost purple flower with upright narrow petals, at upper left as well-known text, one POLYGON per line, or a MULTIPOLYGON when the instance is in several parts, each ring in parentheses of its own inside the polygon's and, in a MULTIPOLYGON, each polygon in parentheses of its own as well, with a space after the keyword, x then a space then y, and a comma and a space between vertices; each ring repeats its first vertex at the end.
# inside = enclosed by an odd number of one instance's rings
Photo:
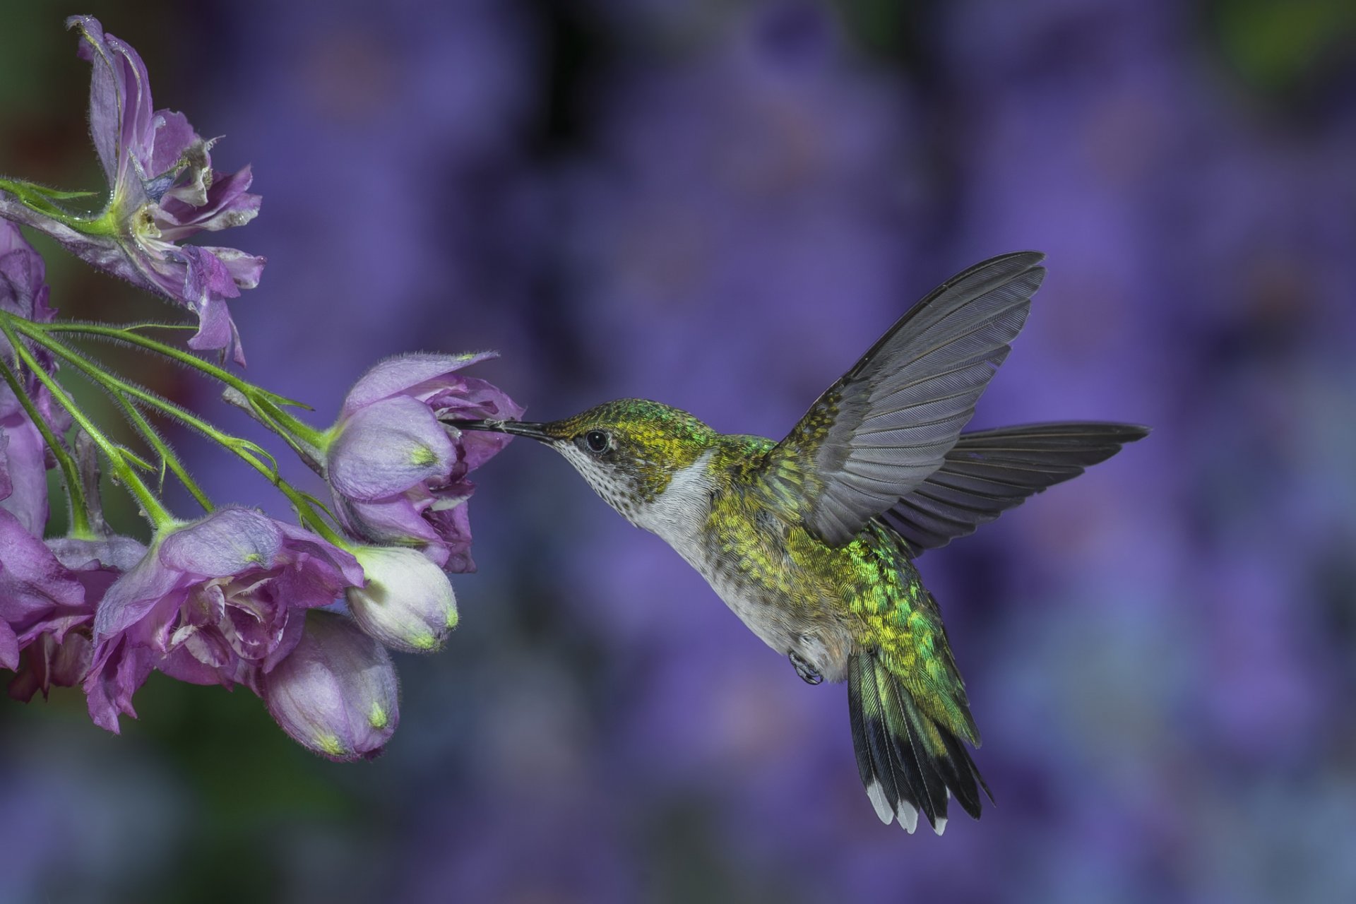
POLYGON ((226 300, 259 283, 264 259, 235 248, 179 245, 203 230, 240 226, 259 213, 250 167, 216 172, 203 141, 180 112, 152 111, 146 66, 130 46, 106 35, 98 19, 71 16, 79 54, 92 66, 89 130, 108 180, 108 205, 76 217, 62 197, 27 183, 0 192, 0 217, 47 233, 88 263, 176 301, 198 314, 193 348, 221 348, 244 363, 226 300))

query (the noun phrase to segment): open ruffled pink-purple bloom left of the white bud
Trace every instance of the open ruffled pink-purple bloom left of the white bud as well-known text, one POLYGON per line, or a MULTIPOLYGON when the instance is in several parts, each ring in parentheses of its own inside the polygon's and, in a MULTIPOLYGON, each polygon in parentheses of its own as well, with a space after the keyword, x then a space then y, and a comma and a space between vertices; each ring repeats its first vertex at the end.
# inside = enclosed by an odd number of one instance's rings
POLYGON ((328 606, 362 580, 348 553, 254 510, 221 508, 163 531, 99 606, 89 717, 117 732, 119 713, 136 716, 132 695, 152 668, 259 693, 260 672, 301 637, 296 610, 328 606))

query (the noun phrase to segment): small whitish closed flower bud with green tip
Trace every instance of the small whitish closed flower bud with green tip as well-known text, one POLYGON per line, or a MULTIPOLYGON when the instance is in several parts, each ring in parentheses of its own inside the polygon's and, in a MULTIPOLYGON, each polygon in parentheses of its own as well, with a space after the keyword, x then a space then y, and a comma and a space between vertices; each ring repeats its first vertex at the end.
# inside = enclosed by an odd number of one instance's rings
POLYGON ((427 653, 457 626, 457 598, 441 568, 414 549, 363 546, 354 558, 367 577, 346 591, 348 611, 362 630, 391 649, 427 653))

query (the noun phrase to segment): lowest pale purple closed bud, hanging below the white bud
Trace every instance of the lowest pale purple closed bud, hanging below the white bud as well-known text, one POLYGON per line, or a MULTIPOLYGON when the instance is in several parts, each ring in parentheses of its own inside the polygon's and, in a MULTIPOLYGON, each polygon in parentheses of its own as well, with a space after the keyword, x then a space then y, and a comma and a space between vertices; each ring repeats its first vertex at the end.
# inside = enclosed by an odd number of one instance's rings
POLYGON ((306 613, 296 649, 263 675, 268 712, 297 743, 332 760, 372 759, 400 722, 391 656, 336 613, 306 613))

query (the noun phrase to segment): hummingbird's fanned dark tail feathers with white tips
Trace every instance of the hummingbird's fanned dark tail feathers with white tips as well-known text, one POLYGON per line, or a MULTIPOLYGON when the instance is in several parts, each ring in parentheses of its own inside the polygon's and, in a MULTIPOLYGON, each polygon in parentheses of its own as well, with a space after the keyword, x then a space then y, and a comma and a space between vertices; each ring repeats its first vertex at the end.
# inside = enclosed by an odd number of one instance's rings
POLYGON ((898 820, 911 835, 922 810, 941 835, 952 797, 975 819, 980 789, 994 800, 961 739, 919 710, 872 653, 848 660, 848 714, 857 773, 880 821, 898 820))

